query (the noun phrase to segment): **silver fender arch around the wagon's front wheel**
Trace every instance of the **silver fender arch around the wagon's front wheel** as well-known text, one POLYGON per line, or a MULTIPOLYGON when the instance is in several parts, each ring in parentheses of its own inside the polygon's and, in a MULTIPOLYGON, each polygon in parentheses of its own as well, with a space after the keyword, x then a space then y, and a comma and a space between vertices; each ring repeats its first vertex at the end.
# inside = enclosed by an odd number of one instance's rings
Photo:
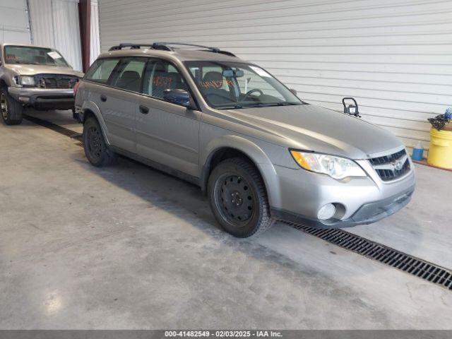
MULTIPOLYGON (((261 141, 260 141, 261 142, 261 141)), ((222 148, 234 148, 247 155, 253 160, 254 165, 261 173, 263 182, 266 185, 268 200, 270 206, 279 206, 280 201, 280 185, 273 163, 270 161, 266 153, 262 150, 258 142, 251 141, 247 138, 237 135, 220 136, 208 142, 200 154, 201 173, 201 189, 206 190, 208 174, 210 173, 210 162, 215 153, 222 148)))

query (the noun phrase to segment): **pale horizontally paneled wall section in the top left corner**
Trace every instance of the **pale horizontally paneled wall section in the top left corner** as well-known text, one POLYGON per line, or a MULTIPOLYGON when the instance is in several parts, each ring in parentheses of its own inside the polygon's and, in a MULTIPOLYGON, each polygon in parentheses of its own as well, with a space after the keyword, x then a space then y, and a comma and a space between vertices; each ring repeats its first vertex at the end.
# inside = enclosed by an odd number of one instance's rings
POLYGON ((0 43, 30 43, 25 0, 0 0, 0 43))

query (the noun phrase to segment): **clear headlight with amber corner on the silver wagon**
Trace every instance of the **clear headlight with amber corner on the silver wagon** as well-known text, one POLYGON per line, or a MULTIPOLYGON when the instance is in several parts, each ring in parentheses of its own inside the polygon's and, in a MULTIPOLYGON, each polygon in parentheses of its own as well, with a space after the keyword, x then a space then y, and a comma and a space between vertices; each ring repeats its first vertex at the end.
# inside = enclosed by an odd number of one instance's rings
POLYGON ((290 150, 292 157, 298 165, 311 172, 328 174, 333 179, 348 177, 367 177, 364 169, 353 160, 334 155, 301 152, 290 150))

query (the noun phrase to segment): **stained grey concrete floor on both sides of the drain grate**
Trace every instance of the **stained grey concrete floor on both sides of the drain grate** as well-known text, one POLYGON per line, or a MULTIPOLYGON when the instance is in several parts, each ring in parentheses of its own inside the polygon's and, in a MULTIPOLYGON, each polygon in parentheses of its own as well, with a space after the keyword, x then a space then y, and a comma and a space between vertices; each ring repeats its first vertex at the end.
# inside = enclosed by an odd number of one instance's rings
MULTIPOLYGON (((68 112, 31 113, 80 131, 68 112)), ((452 329, 452 292, 287 225, 235 239, 196 186, 0 124, 0 328, 452 329)), ((452 268, 452 172, 349 229, 452 268)))

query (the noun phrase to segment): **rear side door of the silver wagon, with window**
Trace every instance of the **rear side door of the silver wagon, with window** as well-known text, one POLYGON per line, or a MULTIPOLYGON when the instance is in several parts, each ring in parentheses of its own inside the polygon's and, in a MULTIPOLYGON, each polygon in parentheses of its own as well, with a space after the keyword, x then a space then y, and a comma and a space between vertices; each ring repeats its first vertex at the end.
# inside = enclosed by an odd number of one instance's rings
POLYGON ((131 153, 136 153, 136 102, 146 61, 141 57, 121 59, 109 78, 108 87, 99 94, 110 143, 131 153))

